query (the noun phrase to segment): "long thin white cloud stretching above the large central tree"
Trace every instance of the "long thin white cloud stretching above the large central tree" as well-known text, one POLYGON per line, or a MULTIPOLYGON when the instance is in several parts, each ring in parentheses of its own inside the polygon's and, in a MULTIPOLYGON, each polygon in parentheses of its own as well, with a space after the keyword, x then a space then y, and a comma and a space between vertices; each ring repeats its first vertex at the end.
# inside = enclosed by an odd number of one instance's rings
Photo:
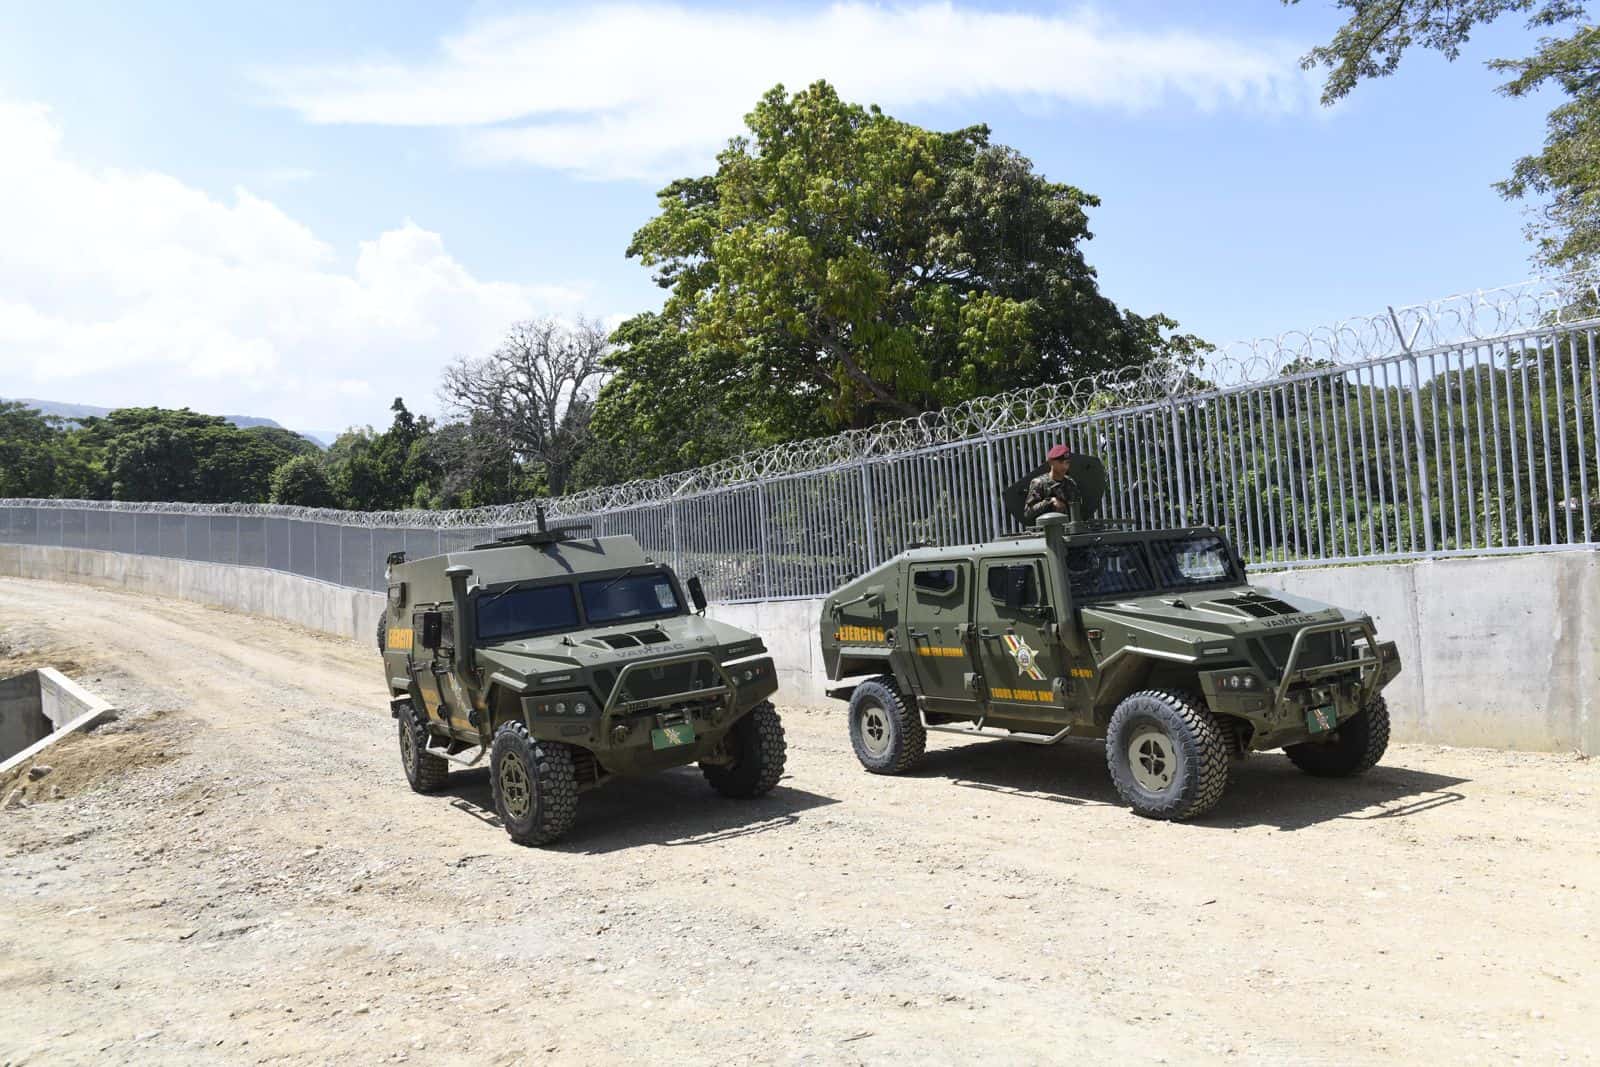
POLYGON ((1306 107, 1301 48, 1120 26, 1091 11, 834 3, 746 13, 664 3, 502 16, 427 62, 272 70, 315 123, 462 128, 469 155, 595 178, 661 178, 707 160, 776 82, 827 78, 886 109, 978 96, 1147 110, 1306 107))

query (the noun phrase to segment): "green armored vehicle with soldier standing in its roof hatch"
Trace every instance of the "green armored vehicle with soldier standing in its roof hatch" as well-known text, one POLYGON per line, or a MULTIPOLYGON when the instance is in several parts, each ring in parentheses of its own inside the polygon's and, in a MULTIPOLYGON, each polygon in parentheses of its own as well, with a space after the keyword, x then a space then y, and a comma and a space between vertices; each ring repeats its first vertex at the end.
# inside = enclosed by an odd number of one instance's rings
MULTIPOLYGON (((910 769, 930 729, 1104 737, 1136 813, 1187 819, 1254 750, 1283 749, 1318 776, 1378 763, 1381 689, 1400 656, 1368 616, 1253 589, 1218 530, 1096 520, 1104 467, 1078 454, 1072 475, 1067 514, 989 544, 902 552, 822 605, 827 675, 851 680, 829 694, 850 701, 862 766, 910 769)), ((1018 523, 1027 482, 1005 493, 1018 523)))

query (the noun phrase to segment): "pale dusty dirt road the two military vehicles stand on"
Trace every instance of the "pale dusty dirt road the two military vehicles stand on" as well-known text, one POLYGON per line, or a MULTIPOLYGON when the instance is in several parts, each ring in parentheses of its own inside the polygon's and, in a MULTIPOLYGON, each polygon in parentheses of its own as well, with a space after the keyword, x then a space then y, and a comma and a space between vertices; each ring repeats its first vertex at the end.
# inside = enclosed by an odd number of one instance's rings
POLYGON ((0 579, 0 673, 131 709, 0 813, 0 1064, 1586 1062, 1600 761, 1390 749, 1131 816, 1099 745, 587 793, 509 843, 483 771, 400 776, 371 648, 0 579), (75 766, 82 763, 83 766, 75 766), (90 771, 115 765, 99 784, 90 771), (85 769, 86 768, 86 769, 85 769), (46 793, 48 795, 48 793, 46 793))

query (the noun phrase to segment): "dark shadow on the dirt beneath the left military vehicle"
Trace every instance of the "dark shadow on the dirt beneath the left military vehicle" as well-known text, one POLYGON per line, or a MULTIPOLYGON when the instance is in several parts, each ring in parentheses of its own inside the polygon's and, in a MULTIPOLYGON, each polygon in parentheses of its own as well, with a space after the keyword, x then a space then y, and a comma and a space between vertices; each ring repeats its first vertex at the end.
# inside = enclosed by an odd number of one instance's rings
MULTIPOLYGON (((637 845, 712 845, 736 837, 781 830, 813 808, 837 805, 834 797, 795 789, 784 777, 755 800, 730 800, 714 792, 698 768, 622 777, 578 798, 578 825, 549 848, 598 856, 637 845)), ((442 790, 464 814, 504 832, 494 814, 486 768, 456 771, 442 790)))

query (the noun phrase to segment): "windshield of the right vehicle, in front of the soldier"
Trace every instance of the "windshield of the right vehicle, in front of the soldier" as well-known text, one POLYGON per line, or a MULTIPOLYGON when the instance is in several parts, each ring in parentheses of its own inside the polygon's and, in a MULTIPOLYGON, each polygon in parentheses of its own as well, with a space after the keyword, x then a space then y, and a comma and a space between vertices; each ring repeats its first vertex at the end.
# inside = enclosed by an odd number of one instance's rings
POLYGON ((1216 534, 1069 545, 1074 598, 1126 597, 1243 581, 1234 553, 1216 534))

